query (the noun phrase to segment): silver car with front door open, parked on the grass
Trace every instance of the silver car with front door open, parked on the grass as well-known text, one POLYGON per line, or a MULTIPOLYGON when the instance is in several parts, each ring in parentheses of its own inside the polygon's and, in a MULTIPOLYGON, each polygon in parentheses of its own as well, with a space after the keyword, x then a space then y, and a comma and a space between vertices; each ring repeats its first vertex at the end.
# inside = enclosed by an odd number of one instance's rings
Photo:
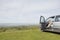
POLYGON ((47 19, 40 16, 40 28, 43 32, 51 31, 60 33, 60 15, 51 16, 47 19))

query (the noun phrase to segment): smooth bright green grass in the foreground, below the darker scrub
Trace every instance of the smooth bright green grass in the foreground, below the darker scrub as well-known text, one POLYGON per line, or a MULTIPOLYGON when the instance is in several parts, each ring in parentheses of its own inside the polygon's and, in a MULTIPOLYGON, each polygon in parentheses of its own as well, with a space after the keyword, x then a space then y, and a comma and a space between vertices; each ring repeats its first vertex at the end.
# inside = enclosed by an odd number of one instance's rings
POLYGON ((0 40, 60 40, 60 35, 39 29, 16 30, 1 32, 0 40))

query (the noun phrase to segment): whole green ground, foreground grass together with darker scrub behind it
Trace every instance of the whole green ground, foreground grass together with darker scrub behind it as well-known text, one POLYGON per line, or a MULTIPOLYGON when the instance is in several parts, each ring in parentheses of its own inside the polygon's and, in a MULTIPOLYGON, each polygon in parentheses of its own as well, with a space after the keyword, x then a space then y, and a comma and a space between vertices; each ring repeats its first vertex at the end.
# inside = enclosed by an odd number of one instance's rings
POLYGON ((0 30, 0 40, 60 40, 60 34, 42 32, 38 26, 2 27, 0 30))

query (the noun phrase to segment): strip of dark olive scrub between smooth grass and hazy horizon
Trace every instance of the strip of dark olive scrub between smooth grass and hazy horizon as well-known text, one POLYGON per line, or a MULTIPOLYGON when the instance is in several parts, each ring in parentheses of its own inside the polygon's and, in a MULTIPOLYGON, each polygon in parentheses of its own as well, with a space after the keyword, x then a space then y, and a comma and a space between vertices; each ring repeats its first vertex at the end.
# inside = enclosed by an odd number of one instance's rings
POLYGON ((36 29, 38 26, 9 26, 9 27, 1 27, 0 32, 5 32, 7 30, 28 30, 28 29, 36 29))

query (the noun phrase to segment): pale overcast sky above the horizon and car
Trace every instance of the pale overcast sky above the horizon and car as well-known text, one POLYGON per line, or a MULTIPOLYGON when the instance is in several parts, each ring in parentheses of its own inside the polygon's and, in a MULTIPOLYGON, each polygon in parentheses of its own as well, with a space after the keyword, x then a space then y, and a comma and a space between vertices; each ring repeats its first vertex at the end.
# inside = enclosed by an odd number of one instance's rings
POLYGON ((60 15, 60 0, 0 0, 0 23, 39 24, 41 15, 60 15))

